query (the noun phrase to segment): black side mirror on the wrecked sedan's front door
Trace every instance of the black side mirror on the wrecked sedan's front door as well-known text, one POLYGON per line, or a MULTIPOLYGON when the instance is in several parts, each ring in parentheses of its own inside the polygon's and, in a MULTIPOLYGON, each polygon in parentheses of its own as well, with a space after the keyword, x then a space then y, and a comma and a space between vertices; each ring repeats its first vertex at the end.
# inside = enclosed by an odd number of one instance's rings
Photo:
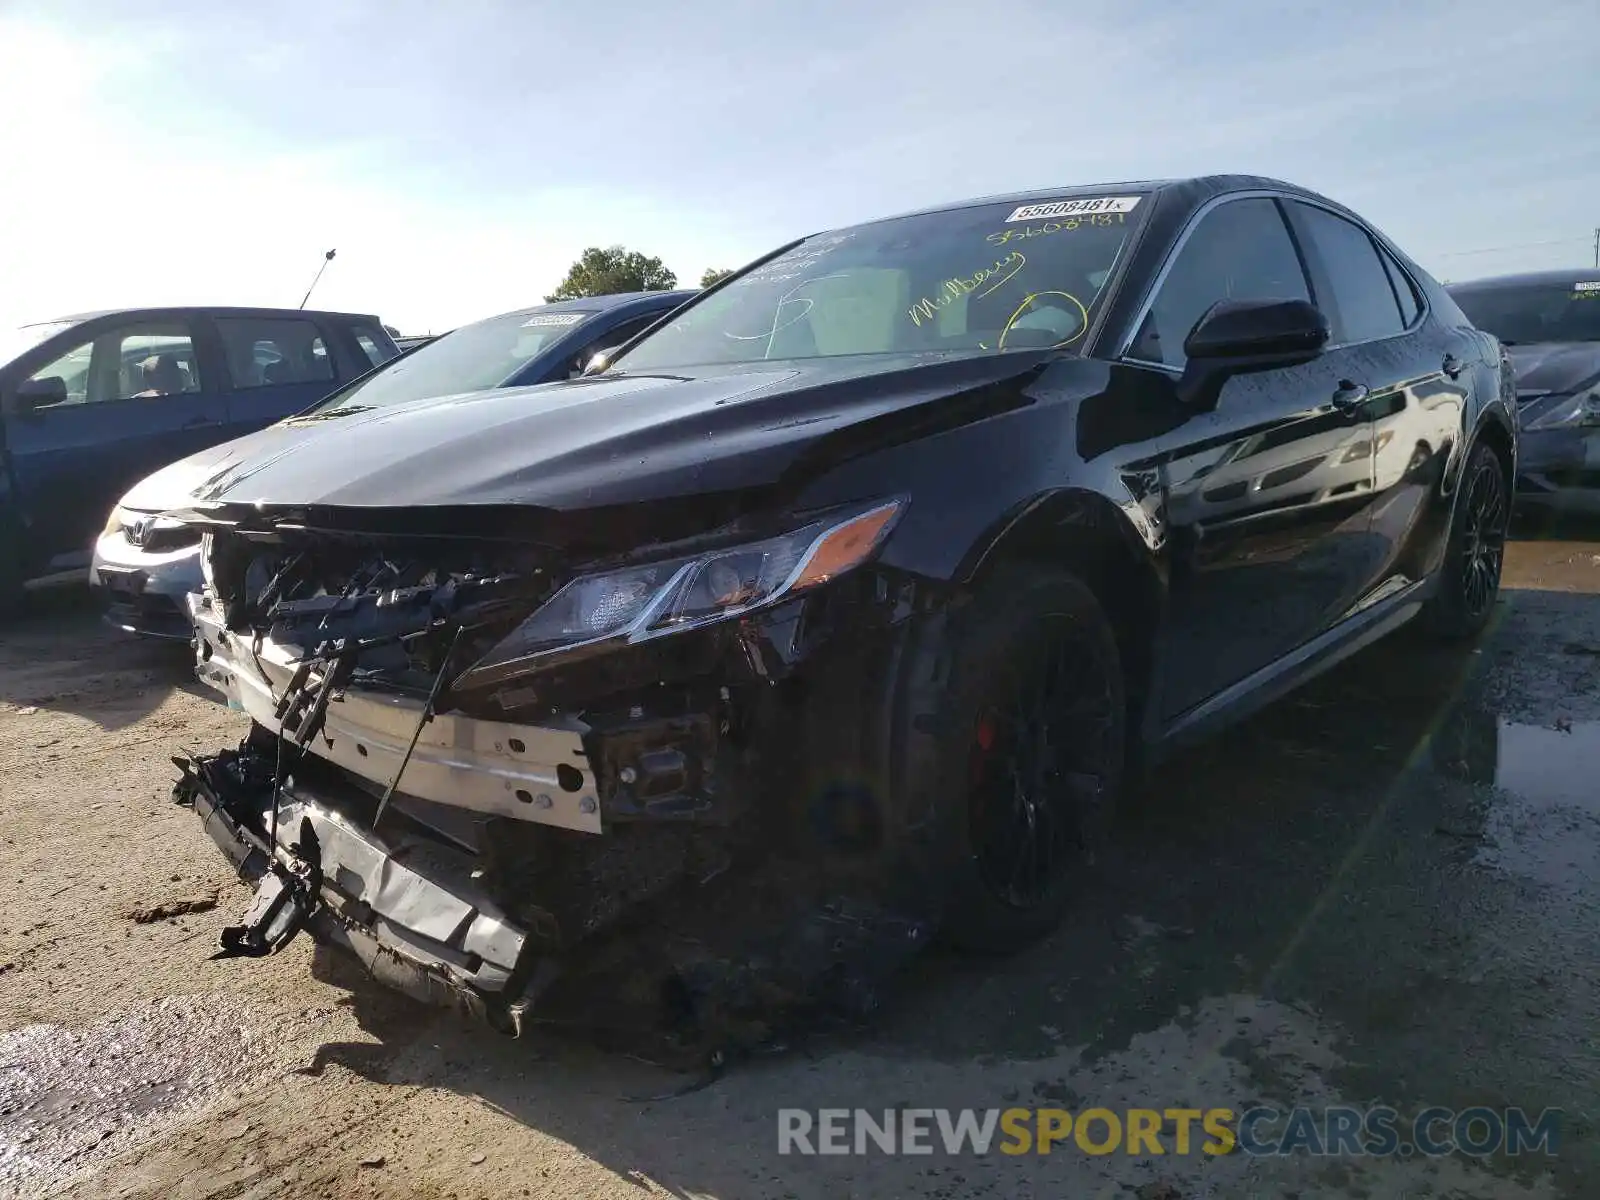
POLYGON ((1328 318, 1310 301, 1218 301, 1184 339, 1187 365, 1179 395, 1214 408, 1230 376, 1307 363, 1330 336, 1328 318))

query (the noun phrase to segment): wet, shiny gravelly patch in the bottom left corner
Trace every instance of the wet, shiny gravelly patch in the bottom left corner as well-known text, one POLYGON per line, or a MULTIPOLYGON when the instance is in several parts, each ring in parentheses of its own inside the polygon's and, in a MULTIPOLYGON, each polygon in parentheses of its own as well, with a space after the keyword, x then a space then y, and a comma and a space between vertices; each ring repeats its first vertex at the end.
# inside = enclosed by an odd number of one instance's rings
POLYGON ((45 1192, 282 1070, 288 1024, 208 995, 0 1034, 0 1195, 45 1192))

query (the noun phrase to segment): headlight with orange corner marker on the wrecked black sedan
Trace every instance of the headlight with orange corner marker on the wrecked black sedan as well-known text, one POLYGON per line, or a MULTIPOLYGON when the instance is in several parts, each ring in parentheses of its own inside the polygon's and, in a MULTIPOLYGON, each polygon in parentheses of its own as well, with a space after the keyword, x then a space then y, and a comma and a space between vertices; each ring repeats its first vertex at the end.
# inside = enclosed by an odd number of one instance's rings
POLYGON ((888 501, 760 542, 579 576, 462 678, 488 683, 552 651, 645 642, 776 603, 866 562, 899 510, 888 501))

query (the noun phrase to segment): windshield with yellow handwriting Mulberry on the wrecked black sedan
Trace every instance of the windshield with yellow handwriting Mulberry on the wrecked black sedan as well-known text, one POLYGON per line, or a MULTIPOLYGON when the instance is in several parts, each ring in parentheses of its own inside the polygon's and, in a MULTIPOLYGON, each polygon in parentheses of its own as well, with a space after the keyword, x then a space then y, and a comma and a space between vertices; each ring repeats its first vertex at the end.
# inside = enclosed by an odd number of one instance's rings
POLYGON ((618 368, 1075 349, 1142 214, 1139 195, 1074 197, 819 234, 691 306, 618 368))

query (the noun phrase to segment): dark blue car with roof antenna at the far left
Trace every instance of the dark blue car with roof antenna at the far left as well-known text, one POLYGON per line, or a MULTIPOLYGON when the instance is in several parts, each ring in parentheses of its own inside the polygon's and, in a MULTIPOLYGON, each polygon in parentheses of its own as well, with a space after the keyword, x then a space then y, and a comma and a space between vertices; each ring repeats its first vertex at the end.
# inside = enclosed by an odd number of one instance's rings
POLYGON ((122 309, 0 339, 0 608, 29 579, 82 570, 139 478, 395 354, 376 317, 301 309, 122 309))

